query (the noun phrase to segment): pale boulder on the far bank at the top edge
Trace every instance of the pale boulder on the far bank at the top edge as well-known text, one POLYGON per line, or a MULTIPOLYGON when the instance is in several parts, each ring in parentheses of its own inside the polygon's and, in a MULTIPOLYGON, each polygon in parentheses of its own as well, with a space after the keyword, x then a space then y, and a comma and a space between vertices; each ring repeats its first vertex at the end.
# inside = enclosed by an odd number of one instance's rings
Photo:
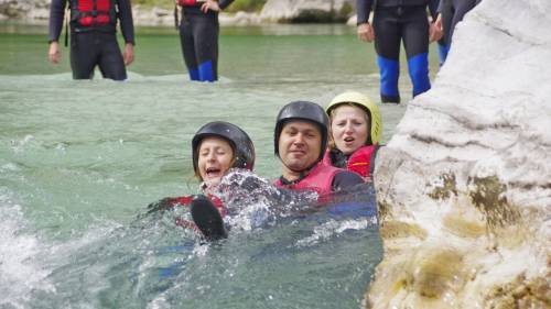
POLYGON ((355 13, 355 0, 268 0, 260 18, 271 22, 344 22, 355 13))

